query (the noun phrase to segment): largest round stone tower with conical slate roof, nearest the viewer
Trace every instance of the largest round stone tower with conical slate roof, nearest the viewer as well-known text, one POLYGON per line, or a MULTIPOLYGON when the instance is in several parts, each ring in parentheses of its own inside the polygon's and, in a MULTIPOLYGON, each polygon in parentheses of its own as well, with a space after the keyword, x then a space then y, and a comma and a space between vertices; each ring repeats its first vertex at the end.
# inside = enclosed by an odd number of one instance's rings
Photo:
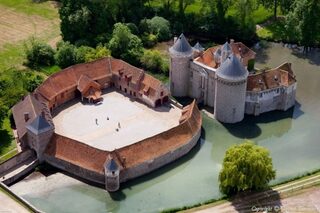
POLYGON ((216 71, 214 116, 224 123, 243 119, 248 70, 231 54, 216 71))

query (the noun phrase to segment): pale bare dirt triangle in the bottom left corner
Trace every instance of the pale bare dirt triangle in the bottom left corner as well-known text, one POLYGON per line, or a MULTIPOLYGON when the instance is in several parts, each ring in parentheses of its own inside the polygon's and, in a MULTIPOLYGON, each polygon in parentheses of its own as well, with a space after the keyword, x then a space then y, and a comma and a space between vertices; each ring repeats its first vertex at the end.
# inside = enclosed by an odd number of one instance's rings
POLYGON ((9 197, 7 194, 2 192, 0 190, 0 212, 15 212, 15 213, 24 213, 24 212, 29 212, 26 210, 23 206, 21 206, 19 203, 14 201, 11 197, 9 197))

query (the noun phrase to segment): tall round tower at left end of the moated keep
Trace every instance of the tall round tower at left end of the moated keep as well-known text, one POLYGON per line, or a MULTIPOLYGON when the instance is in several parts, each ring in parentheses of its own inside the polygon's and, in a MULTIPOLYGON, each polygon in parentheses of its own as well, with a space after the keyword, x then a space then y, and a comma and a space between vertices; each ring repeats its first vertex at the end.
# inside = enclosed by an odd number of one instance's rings
POLYGON ((170 92, 173 96, 188 96, 190 81, 190 60, 193 50, 183 34, 175 39, 170 52, 170 92))

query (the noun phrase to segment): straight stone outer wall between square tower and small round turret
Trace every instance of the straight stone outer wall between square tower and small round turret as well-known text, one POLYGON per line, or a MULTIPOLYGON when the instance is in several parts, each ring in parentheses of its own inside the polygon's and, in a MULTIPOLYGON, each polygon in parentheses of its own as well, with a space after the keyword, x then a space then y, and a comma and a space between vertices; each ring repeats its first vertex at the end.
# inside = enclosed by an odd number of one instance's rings
POLYGON ((48 164, 59 168, 63 171, 66 171, 70 174, 74 174, 78 177, 84 178, 86 180, 92 181, 94 183, 99 183, 99 184, 104 184, 105 182, 105 177, 102 174, 98 174, 96 172, 87 170, 83 167, 74 165, 70 162, 49 156, 49 155, 44 155, 44 160, 48 164))

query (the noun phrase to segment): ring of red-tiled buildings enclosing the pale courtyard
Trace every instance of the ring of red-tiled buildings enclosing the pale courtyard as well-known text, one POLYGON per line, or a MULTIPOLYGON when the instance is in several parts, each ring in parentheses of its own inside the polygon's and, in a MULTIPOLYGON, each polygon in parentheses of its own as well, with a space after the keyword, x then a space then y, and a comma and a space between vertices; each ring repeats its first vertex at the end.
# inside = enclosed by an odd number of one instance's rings
MULTIPOLYGON (((196 145, 202 118, 195 102, 179 106, 181 115, 174 127, 114 150, 102 150, 57 133, 53 117, 60 106, 74 99, 99 102, 108 88, 151 109, 171 101, 168 89, 159 80, 119 59, 108 57, 68 67, 51 75, 13 106, 22 153, 35 153, 40 163, 116 191, 120 183, 168 164, 196 145)), ((10 168, 7 164, 10 162, 2 167, 10 168)))

